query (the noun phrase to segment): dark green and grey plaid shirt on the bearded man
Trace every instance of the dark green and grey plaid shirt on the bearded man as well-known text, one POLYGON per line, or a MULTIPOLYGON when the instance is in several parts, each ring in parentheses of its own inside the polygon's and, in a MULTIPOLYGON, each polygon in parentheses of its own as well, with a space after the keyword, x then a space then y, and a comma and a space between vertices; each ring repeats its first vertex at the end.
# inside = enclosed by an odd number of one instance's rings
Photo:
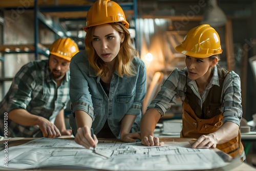
MULTIPOLYGON (((8 93, 0 102, 1 136, 4 133, 4 114, 14 109, 27 110, 52 123, 59 112, 66 109, 70 100, 69 71, 58 87, 48 68, 48 60, 31 61, 15 75, 8 93)), ((8 120, 8 137, 35 137, 38 133, 38 125, 23 126, 8 120)))

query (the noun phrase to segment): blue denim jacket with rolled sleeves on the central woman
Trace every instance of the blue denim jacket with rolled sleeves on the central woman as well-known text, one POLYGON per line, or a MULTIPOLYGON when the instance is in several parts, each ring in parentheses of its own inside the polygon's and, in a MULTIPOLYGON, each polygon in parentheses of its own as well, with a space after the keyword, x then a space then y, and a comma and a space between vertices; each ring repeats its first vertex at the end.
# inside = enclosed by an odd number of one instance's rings
POLYGON ((146 95, 146 68, 138 57, 132 60, 136 75, 119 77, 115 71, 110 83, 109 97, 105 94, 100 77, 89 64, 86 51, 78 52, 70 62, 70 99, 73 117, 70 124, 77 131, 75 111, 82 110, 91 116, 92 128, 97 134, 106 119, 112 133, 119 138, 121 120, 125 114, 137 115, 132 132, 139 131, 141 104, 146 95))

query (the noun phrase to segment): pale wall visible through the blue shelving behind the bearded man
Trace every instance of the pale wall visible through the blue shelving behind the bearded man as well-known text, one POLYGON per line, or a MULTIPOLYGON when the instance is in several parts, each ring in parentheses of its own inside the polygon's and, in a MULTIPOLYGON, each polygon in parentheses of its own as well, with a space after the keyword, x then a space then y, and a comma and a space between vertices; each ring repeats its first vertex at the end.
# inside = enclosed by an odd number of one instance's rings
MULTIPOLYGON (((3 32, 4 45, 34 45, 34 12, 26 10, 24 12, 15 13, 14 10, 6 10, 5 25, 3 32)), ((55 40, 52 32, 39 26, 39 42, 41 44, 51 44, 55 40)), ((4 75, 12 78, 19 69, 31 60, 34 60, 34 53, 5 53, 4 54, 4 75)), ((39 55, 38 59, 46 59, 47 57, 39 55)), ((2 65, 2 63, 1 63, 2 65)), ((2 67, 2 66, 1 66, 2 67)), ((5 94, 8 92, 11 81, 5 81, 5 94)), ((1 89, 2 90, 2 89, 1 89)), ((0 99, 4 95, 0 93, 0 99)))

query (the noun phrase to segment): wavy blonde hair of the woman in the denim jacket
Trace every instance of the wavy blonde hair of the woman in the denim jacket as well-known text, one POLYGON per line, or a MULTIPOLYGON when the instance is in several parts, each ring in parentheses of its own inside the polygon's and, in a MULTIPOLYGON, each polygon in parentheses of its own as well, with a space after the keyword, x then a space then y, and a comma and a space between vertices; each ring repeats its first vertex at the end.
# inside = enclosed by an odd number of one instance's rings
MULTIPOLYGON (((136 74, 134 65, 132 63, 135 57, 136 50, 132 46, 132 40, 128 29, 124 27, 122 23, 108 23, 116 31, 118 31, 120 37, 124 36, 124 40, 120 45, 120 50, 116 56, 115 69, 120 77, 123 75, 134 76, 136 74)), ((106 63, 97 55, 92 45, 94 30, 96 26, 90 27, 87 31, 86 37, 84 38, 84 44, 86 46, 86 57, 90 65, 94 68, 98 76, 106 76, 110 70, 106 63)))

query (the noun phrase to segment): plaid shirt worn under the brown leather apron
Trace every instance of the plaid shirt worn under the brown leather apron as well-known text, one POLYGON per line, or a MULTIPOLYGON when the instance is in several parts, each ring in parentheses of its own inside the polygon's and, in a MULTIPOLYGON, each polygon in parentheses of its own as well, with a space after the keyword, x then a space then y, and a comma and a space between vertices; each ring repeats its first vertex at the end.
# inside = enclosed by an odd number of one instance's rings
MULTIPOLYGON (((158 92, 155 99, 151 102, 147 109, 155 108, 163 116, 164 113, 176 104, 176 99, 180 98, 181 101, 185 99, 186 82, 191 90, 198 97, 198 104, 203 105, 210 88, 215 84, 219 86, 218 68, 213 68, 213 75, 203 92, 202 97, 198 92, 197 83, 195 80, 189 79, 186 76, 187 68, 183 70, 175 69, 169 77, 165 80, 160 92, 158 92)), ((242 105, 241 105, 241 82, 238 74, 230 71, 223 82, 222 97, 220 102, 222 104, 221 111, 223 113, 223 123, 230 121, 240 125, 242 118, 242 105)))

